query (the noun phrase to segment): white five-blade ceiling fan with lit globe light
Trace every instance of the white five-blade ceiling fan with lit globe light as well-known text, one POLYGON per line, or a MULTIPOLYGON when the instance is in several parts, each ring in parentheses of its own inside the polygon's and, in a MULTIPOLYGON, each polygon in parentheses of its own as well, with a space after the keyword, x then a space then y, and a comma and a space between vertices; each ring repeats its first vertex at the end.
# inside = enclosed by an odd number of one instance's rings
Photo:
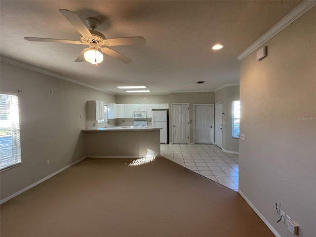
POLYGON ((98 64, 103 61, 103 54, 101 52, 123 63, 130 63, 132 60, 130 60, 124 55, 106 46, 133 45, 133 44, 146 43, 145 38, 142 36, 106 39, 102 33, 95 31, 95 28, 100 24, 100 22, 97 19, 89 17, 85 20, 86 23, 91 28, 91 30, 89 30, 76 12, 72 12, 66 9, 59 9, 59 11, 67 18, 67 20, 80 33, 81 35, 80 41, 49 39, 49 38, 33 38, 33 37, 24 37, 24 39, 29 40, 29 41, 89 45, 88 48, 85 48, 82 50, 82 52, 79 54, 79 57, 75 60, 75 62, 84 62, 84 60, 86 60, 87 62, 92 63, 92 64, 98 64), (100 49, 101 52, 99 52, 98 49, 100 49))

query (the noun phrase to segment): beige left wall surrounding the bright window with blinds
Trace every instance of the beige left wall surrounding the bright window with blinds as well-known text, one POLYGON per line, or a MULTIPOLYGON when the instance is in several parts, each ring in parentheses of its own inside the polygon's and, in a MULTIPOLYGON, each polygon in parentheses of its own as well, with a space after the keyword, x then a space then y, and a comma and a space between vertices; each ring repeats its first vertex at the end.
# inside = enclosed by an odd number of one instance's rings
POLYGON ((2 200, 84 157, 81 129, 86 127, 86 101, 113 103, 115 97, 4 62, 0 70, 2 92, 22 90, 18 93, 22 164, 0 172, 2 200))

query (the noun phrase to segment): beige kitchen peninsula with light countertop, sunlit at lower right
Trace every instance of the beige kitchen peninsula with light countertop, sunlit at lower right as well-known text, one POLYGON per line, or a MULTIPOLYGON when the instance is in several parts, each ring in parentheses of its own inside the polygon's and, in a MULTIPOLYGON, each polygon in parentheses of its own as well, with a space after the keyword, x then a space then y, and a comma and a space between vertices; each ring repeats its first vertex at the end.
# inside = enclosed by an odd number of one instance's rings
POLYGON ((115 126, 81 131, 87 157, 142 158, 160 155, 160 129, 115 126))

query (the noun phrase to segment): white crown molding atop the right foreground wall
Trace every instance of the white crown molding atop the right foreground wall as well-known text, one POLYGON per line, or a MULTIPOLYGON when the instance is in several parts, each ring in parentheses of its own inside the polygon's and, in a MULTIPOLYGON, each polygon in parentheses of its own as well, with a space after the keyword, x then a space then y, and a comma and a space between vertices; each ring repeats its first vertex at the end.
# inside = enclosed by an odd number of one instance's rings
POLYGON ((299 5, 297 5, 290 13, 284 16, 275 26, 273 26, 269 31, 262 35, 258 40, 252 43, 248 48, 246 48, 242 53, 237 56, 237 59, 241 61, 247 57, 250 53, 259 48, 262 44, 273 38, 276 34, 285 29, 288 25, 302 16, 305 12, 309 11, 312 7, 316 5, 315 0, 303 0, 299 5))

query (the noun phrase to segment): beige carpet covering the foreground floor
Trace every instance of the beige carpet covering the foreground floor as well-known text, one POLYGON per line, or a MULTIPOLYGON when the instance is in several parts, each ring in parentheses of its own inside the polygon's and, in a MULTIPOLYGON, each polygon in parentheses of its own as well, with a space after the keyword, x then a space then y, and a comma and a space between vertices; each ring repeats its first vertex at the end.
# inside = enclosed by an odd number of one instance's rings
POLYGON ((3 203, 1 237, 274 237, 237 192, 132 160, 86 158, 3 203))

